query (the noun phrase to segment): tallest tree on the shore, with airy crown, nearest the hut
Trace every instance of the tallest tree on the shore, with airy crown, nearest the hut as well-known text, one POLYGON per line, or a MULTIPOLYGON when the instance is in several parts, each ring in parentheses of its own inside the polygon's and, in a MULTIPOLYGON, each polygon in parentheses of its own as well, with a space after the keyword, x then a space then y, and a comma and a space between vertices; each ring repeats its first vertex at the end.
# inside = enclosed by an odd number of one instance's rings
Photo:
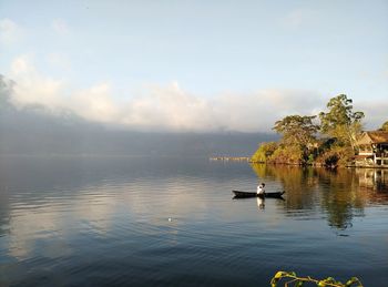
POLYGON ((341 144, 355 148, 357 135, 361 131, 363 112, 353 111, 353 100, 346 94, 331 98, 327 103, 328 112, 319 113, 320 131, 336 137, 341 144))

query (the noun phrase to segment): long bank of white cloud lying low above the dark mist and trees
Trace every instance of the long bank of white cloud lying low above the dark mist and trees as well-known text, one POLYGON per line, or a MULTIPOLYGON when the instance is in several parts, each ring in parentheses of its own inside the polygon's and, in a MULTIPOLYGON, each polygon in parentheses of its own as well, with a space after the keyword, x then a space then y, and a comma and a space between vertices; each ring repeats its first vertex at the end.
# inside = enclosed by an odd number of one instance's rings
MULTIPOLYGON (((90 121, 143 131, 270 131, 275 121, 289 114, 317 114, 328 101, 313 91, 276 89, 208 99, 183 90, 177 82, 149 85, 141 94, 118 100, 110 83, 72 91, 65 81, 42 75, 28 55, 13 61, 9 76, 17 83, 12 100, 18 105, 70 110, 90 121)), ((365 103, 359 110, 366 111, 368 126, 379 125, 388 106, 365 103)))

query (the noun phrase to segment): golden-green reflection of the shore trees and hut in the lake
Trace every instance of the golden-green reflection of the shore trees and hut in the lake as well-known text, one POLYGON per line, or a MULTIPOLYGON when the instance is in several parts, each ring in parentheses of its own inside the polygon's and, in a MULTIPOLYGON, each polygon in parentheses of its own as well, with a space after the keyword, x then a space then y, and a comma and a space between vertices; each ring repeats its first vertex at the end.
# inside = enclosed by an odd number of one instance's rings
POLYGON ((261 181, 279 182, 287 199, 280 202, 287 216, 313 218, 321 212, 328 225, 351 227, 364 216, 366 205, 388 204, 388 170, 299 167, 253 164, 261 181))

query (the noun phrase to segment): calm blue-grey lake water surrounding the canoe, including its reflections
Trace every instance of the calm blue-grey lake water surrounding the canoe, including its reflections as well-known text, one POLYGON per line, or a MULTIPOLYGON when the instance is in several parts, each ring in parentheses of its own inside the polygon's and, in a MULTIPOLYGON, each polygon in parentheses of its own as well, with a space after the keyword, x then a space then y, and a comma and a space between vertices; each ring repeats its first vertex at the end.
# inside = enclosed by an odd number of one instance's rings
POLYGON ((388 171, 0 157, 0 286, 268 286, 277 270, 387 286, 388 171), (258 182, 285 201, 232 199, 258 182))

